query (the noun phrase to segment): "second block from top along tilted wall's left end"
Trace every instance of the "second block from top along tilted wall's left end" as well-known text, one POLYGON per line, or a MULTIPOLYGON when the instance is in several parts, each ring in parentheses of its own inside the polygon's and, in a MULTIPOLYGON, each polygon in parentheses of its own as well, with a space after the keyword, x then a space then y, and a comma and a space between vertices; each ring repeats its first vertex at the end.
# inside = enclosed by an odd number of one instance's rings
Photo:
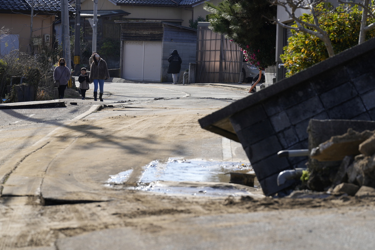
POLYGON ((236 131, 236 133, 241 144, 246 147, 275 134, 275 130, 273 130, 270 121, 266 119, 245 129, 236 131))

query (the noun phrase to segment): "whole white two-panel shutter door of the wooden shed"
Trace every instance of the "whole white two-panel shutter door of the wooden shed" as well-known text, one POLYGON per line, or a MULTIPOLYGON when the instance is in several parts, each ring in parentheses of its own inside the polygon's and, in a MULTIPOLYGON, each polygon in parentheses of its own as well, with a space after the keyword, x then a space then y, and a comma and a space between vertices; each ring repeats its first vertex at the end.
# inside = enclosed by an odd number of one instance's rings
POLYGON ((123 78, 133 81, 161 79, 162 42, 126 41, 123 78))

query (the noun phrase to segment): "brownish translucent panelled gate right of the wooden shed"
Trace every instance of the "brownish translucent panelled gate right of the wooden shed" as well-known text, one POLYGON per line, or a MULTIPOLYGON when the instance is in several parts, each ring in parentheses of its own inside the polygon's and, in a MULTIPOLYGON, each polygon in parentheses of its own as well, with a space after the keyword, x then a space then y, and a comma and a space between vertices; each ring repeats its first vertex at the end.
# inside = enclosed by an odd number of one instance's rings
POLYGON ((214 33, 209 22, 197 28, 195 82, 239 82, 242 70, 240 47, 214 33))

